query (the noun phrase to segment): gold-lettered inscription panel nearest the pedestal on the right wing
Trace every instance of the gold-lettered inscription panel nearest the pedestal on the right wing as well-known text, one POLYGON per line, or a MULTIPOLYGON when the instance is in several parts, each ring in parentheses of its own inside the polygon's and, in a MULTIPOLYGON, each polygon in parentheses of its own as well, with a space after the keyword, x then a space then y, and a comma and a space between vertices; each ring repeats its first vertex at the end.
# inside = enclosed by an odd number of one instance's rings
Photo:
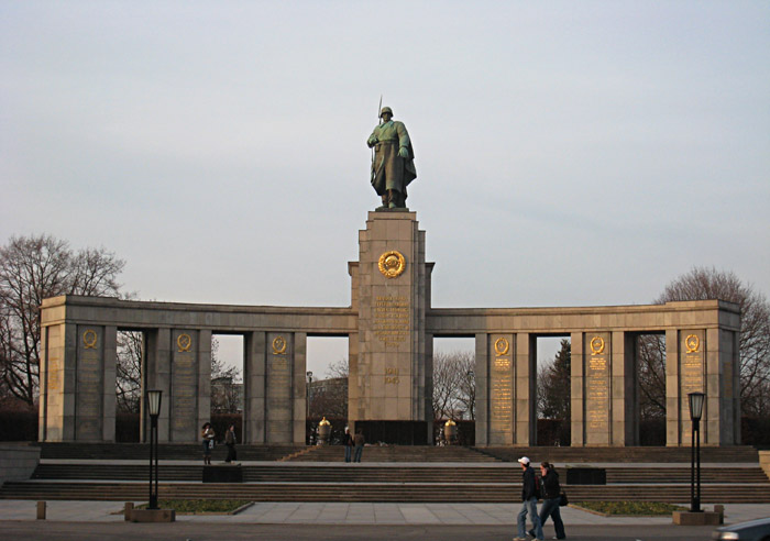
POLYGON ((514 440, 513 334, 490 335, 490 444, 508 445, 514 440))

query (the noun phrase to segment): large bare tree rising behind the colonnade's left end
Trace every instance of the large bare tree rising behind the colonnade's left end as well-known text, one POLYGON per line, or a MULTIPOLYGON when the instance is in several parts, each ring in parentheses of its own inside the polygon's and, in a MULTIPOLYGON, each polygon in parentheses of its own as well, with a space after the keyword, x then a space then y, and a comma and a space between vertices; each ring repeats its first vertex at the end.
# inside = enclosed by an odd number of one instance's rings
POLYGON ((0 390, 30 405, 40 377, 40 306, 59 295, 118 296, 125 262, 105 249, 73 252, 51 235, 0 249, 0 390))

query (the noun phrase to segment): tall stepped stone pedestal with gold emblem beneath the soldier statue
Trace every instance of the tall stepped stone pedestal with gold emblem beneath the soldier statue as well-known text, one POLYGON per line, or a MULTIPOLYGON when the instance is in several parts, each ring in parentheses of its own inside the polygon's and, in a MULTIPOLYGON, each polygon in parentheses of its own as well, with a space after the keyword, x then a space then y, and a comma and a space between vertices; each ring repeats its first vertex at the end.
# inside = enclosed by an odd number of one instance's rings
POLYGON ((414 212, 370 212, 359 246, 360 261, 350 265, 359 332, 350 352, 349 417, 428 423, 432 344, 425 314, 432 265, 425 263, 425 232, 414 212))

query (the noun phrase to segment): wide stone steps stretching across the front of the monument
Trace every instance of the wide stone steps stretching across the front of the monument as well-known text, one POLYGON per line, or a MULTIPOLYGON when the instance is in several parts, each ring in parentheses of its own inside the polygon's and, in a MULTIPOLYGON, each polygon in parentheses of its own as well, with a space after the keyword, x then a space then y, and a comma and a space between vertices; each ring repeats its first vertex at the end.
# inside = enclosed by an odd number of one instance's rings
MULTIPOLYGON (((0 498, 136 501, 147 497, 148 449, 140 444, 106 445, 108 459, 84 444, 44 449, 33 477, 8 482, 0 498), (109 449, 112 448, 112 449, 109 449), (121 449, 114 449, 121 448, 121 449), (68 459, 68 455, 79 455, 68 459), (89 460, 90 459, 90 460, 89 460)), ((361 464, 343 463, 341 446, 239 446, 244 483, 201 483, 204 465, 197 445, 161 445, 162 498, 242 498, 253 501, 398 501, 516 503, 520 467, 505 462, 527 455, 534 462, 565 467, 600 464, 606 485, 565 485, 570 500, 690 500, 689 449, 484 449, 376 448, 364 450, 361 464), (258 449, 257 449, 258 448, 258 449), (266 449, 271 448, 271 449, 266 449), (278 457, 294 455, 292 461, 278 457), (166 454, 167 452, 167 454, 166 454), (284 454, 282 454, 284 453, 284 454), (170 455, 170 456, 168 456, 170 455), (673 455, 679 460, 663 460, 673 455), (187 459, 190 456, 191 459, 187 459), (251 461, 246 456, 273 456, 251 461), (614 460, 613 460, 614 459, 614 460), (635 465, 636 462, 636 465, 635 465), (651 464, 652 463, 652 464, 651 464)), ((215 463, 223 459, 217 459, 215 463)), ((704 504, 768 503, 770 481, 751 448, 702 450, 704 504), (751 457, 754 456, 754 460, 751 457), (717 461, 719 459, 719 461, 717 461)))

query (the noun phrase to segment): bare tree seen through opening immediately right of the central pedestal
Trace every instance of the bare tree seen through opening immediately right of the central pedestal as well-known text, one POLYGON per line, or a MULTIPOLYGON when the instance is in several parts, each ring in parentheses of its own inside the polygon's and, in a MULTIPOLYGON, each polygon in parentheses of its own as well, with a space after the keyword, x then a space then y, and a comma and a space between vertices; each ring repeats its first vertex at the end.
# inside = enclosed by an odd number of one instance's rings
POLYGON ((433 418, 457 419, 462 412, 475 418, 473 352, 453 351, 433 355, 433 418))

